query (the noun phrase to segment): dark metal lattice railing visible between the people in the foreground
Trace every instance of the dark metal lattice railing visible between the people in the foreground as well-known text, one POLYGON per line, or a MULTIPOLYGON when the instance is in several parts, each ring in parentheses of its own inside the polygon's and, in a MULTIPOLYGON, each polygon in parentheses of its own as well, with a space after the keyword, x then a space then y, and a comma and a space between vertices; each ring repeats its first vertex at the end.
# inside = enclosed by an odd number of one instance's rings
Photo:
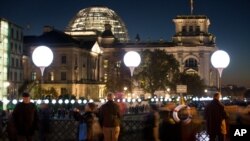
MULTIPOLYGON (((121 122, 121 132, 119 141, 143 141, 143 127, 144 115, 125 115, 121 122)), ((183 138, 192 138, 196 141, 207 141, 208 135, 205 132, 204 122, 202 124, 190 123, 188 125, 180 126, 178 136, 183 138)), ((50 130, 47 138, 49 141, 76 141, 78 122, 67 119, 51 119, 50 130)), ((169 131, 166 131, 169 132, 169 131)), ((39 131, 36 133, 35 140, 39 141, 39 131)), ((8 134, 6 130, 1 135, 0 141, 8 141, 8 134)))

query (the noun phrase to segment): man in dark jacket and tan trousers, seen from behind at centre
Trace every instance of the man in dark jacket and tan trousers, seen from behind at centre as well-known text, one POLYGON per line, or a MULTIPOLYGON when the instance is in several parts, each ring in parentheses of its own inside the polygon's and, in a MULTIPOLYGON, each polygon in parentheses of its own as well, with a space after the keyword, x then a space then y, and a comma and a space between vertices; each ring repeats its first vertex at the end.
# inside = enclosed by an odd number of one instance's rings
POLYGON ((108 101, 100 108, 99 118, 103 127, 104 141, 118 141, 120 134, 121 112, 113 99, 113 93, 108 93, 108 101))

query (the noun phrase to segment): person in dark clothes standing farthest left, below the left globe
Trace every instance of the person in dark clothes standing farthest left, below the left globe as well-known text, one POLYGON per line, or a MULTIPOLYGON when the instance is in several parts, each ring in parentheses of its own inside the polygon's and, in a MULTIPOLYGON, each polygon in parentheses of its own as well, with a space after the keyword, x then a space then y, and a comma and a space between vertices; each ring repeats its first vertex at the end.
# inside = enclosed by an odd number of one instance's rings
POLYGON ((38 112, 35 104, 30 102, 29 93, 23 93, 23 102, 16 105, 13 111, 14 126, 18 141, 33 141, 35 130, 38 129, 38 112))

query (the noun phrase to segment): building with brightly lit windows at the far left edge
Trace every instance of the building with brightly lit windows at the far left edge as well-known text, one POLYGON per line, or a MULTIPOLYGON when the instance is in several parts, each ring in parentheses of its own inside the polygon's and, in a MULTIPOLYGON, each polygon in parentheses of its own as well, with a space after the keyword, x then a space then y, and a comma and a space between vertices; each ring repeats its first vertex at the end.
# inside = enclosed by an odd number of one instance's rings
POLYGON ((0 18, 0 99, 16 98, 23 84, 23 29, 0 18))

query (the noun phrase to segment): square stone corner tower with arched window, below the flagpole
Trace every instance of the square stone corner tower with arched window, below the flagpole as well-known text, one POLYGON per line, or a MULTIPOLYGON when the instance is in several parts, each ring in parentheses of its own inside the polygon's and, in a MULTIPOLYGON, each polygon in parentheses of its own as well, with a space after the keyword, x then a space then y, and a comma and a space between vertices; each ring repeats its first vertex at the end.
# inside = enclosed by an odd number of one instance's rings
POLYGON ((177 45, 176 57, 180 70, 197 73, 207 86, 216 86, 216 75, 210 63, 211 54, 217 49, 215 36, 209 33, 210 21, 205 15, 181 15, 173 19, 177 45))

